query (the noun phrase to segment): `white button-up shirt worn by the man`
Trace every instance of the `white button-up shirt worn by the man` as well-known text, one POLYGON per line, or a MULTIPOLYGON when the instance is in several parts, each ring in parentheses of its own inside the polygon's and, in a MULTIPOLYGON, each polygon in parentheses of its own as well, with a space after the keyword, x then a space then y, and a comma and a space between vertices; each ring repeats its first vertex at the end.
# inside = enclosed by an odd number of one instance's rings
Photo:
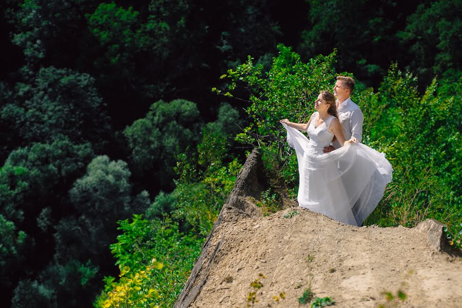
MULTIPOLYGON (((362 115, 359 106, 355 104, 350 98, 347 98, 340 104, 340 106, 338 106, 337 112, 340 123, 342 124, 345 140, 349 140, 351 137, 355 137, 358 142, 361 142, 362 122, 364 122, 364 116, 362 115)), ((340 148, 340 143, 338 140, 335 140, 332 145, 336 149, 340 148)))

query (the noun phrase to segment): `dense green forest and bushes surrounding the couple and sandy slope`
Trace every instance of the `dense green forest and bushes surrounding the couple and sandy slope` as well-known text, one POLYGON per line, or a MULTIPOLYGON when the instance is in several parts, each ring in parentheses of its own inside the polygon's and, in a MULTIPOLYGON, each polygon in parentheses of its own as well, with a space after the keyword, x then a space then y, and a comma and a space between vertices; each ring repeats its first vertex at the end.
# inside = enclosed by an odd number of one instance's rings
POLYGON ((296 196, 278 119, 306 120, 338 74, 394 168, 366 223, 435 218, 461 246, 462 2, 0 8, 2 306, 171 306, 248 151, 296 196))

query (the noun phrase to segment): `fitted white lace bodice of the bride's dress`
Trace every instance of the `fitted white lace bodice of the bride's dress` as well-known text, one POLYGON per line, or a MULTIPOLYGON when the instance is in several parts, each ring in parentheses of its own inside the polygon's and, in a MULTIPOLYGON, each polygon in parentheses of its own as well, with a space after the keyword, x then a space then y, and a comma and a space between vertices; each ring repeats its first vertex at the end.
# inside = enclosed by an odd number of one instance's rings
POLYGON ((331 121, 335 118, 331 116, 329 119, 324 121, 321 125, 316 127, 316 118, 318 113, 315 112, 312 116, 310 126, 308 126, 307 133, 310 137, 310 142, 307 145, 307 153, 312 155, 323 154, 322 150, 324 147, 328 147, 334 138, 334 133, 329 130, 331 121))

